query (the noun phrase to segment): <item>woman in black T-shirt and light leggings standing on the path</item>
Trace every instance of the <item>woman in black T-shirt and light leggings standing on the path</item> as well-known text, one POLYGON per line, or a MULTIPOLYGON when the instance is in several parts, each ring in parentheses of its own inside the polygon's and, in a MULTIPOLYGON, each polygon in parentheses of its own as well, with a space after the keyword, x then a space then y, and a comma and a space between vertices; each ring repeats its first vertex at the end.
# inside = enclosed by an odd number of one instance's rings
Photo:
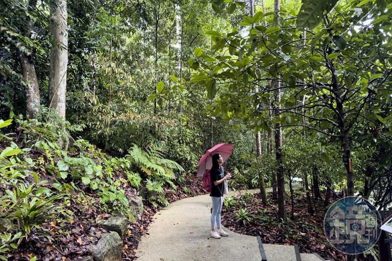
POLYGON ((226 176, 223 173, 223 158, 220 154, 212 155, 211 168, 211 182, 212 190, 210 196, 212 198, 212 213, 211 213, 211 237, 221 238, 221 236, 228 236, 221 228, 221 211, 223 203, 223 182, 231 178, 230 173, 226 176), (218 227, 218 229, 216 229, 218 227))

